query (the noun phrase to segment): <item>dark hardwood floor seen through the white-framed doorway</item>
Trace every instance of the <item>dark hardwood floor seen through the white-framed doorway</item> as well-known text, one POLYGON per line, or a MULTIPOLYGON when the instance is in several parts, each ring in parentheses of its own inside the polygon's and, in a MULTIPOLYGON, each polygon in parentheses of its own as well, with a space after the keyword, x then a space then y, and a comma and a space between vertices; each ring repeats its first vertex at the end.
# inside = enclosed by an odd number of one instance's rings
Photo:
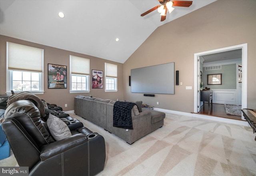
MULTIPOLYGON (((234 116, 234 115, 226 114, 224 109, 224 104, 213 103, 213 104, 210 104, 210 108, 208 109, 208 103, 204 103, 204 105, 200 107, 200 112, 198 112, 197 114, 242 120, 242 116, 234 116)), ((245 121, 245 120, 242 120, 242 121, 245 121)))

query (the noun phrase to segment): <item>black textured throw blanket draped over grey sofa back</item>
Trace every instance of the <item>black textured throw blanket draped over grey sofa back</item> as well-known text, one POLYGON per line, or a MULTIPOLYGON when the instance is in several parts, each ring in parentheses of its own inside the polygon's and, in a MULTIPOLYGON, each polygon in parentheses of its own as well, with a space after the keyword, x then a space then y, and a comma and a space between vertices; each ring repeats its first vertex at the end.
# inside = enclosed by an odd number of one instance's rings
POLYGON ((117 101, 113 109, 113 126, 132 130, 132 102, 117 101))

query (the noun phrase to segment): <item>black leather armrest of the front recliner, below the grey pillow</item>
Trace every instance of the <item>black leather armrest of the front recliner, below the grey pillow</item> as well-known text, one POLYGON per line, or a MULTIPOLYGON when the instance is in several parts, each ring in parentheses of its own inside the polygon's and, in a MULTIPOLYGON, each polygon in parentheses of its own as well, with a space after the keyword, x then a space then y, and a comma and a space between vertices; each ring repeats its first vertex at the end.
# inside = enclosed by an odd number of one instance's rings
POLYGON ((84 134, 75 134, 63 140, 52 142, 42 147, 40 158, 44 161, 85 142, 88 142, 88 138, 84 134))

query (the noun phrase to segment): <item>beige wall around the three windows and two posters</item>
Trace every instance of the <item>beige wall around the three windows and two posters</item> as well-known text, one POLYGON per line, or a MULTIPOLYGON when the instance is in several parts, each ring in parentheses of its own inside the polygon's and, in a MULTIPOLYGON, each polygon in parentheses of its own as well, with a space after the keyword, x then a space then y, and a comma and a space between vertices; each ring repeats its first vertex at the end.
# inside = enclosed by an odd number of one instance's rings
MULTIPOLYGON (((38 94, 41 99, 46 102, 57 104, 61 106, 64 111, 74 110, 74 97, 77 95, 92 95, 94 97, 108 98, 110 100, 123 99, 123 64, 112 62, 109 60, 104 60, 101 58, 96 58, 93 56, 88 56, 84 54, 78 54, 75 52, 70 52, 66 50, 61 50, 58 48, 52 48, 50 46, 44 46, 40 44, 35 44, 32 42, 27 42, 24 40, 19 40, 16 38, 10 38, 7 36, 0 35, 0 95, 6 95, 6 42, 14 42, 18 44, 24 44, 28 46, 33 46, 37 48, 44 49, 44 94, 38 94), (69 56, 79 56, 83 58, 90 59, 90 70, 105 70, 105 62, 117 64, 118 65, 118 92, 104 92, 105 86, 103 89, 92 89, 90 88, 90 93, 76 93, 70 94, 69 86, 69 56), (60 64, 67 66, 68 78, 67 78, 67 88, 66 89, 48 89, 47 78, 48 78, 48 64, 60 64), (65 108, 65 104, 68 104, 68 107, 65 108)), ((91 87, 91 84, 90 84, 91 87)))

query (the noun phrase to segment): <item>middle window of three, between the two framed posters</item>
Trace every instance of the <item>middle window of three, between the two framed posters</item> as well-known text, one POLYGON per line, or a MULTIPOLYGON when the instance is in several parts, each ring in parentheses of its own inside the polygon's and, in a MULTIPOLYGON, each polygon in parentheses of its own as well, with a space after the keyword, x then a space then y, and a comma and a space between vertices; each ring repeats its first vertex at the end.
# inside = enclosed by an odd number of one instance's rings
POLYGON ((70 93, 90 91, 90 59, 70 55, 70 73, 70 93))

